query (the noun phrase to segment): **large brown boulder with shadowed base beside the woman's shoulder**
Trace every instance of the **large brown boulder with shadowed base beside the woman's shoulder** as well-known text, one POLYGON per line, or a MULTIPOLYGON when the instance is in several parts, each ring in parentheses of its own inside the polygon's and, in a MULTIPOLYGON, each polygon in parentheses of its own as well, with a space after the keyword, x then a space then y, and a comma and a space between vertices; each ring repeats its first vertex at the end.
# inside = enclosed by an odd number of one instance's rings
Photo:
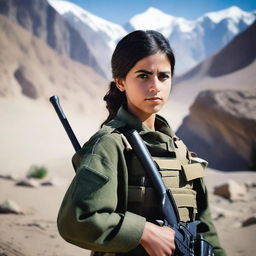
POLYGON ((256 157, 255 110, 256 91, 203 91, 177 135, 212 168, 248 169, 256 157))

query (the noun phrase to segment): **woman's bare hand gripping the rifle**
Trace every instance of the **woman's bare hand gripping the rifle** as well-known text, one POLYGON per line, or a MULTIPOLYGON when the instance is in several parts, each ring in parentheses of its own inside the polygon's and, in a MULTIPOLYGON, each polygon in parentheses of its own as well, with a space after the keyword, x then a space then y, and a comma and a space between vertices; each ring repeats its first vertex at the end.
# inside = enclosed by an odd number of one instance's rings
POLYGON ((174 238, 173 229, 146 222, 140 244, 150 256, 170 256, 175 250, 174 238))

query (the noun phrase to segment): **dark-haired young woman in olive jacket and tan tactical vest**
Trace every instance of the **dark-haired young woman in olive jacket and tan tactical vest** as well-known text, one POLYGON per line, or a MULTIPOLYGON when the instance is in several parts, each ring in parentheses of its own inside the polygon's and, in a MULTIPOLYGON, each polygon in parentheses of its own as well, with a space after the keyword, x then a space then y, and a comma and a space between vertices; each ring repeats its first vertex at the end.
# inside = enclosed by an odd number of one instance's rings
POLYGON ((203 183, 203 163, 157 115, 167 102, 175 58, 156 31, 134 31, 112 56, 113 81, 104 100, 109 116, 73 157, 76 169, 58 215, 62 237, 93 255, 173 255, 175 232, 160 227, 158 202, 145 170, 122 131, 136 129, 171 189, 182 221, 225 255, 213 226, 203 183))

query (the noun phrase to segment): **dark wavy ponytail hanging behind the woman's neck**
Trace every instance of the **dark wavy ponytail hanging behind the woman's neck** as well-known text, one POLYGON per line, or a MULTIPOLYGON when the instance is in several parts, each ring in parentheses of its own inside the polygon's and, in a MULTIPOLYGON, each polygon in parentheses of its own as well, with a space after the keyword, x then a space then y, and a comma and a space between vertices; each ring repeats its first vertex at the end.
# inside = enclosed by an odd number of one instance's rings
POLYGON ((116 83, 112 81, 109 84, 109 90, 103 98, 106 101, 106 108, 109 112, 107 119, 101 124, 101 127, 112 120, 117 114, 118 109, 126 103, 126 96, 124 92, 118 90, 116 83))

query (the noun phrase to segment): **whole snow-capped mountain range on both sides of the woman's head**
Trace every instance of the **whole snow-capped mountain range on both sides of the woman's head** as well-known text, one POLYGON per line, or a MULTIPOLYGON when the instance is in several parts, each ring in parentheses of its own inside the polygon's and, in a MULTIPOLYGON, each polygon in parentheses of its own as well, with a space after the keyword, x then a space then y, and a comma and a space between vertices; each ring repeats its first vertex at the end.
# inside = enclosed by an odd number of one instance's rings
POLYGON ((110 77, 110 58, 117 41, 136 29, 154 29, 169 38, 176 55, 176 74, 193 68, 200 61, 226 46, 237 34, 253 23, 256 11, 238 7, 206 13, 186 20, 154 7, 135 15, 124 26, 97 17, 64 0, 48 0, 82 36, 100 67, 110 77))

